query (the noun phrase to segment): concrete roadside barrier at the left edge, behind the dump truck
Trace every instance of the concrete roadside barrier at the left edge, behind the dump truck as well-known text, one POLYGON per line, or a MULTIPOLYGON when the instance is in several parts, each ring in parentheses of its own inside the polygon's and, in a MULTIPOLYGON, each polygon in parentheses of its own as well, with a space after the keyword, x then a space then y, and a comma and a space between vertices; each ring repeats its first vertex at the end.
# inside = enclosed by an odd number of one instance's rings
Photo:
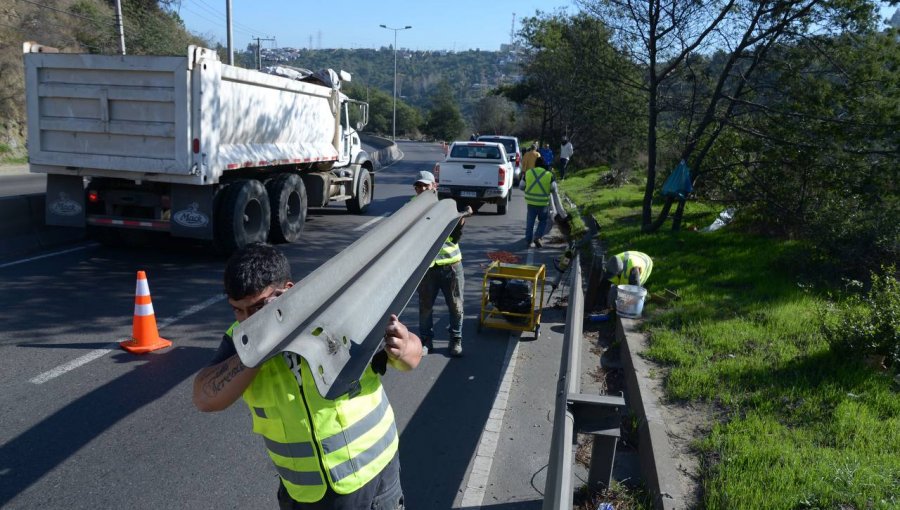
POLYGON ((9 259, 85 238, 84 229, 44 224, 44 194, 0 197, 0 258, 9 259))

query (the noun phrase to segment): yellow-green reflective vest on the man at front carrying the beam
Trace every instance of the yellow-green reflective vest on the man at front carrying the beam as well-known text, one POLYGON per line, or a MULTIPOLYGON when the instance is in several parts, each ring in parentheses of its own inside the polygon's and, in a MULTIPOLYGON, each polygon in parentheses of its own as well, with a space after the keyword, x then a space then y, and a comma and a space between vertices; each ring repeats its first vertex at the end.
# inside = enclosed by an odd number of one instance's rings
POLYGON ((311 503, 325 495, 326 480, 338 494, 370 482, 394 458, 399 438, 394 411, 371 366, 357 395, 328 400, 300 359, 302 388, 284 357, 275 356, 260 366, 243 398, 253 432, 263 436, 288 494, 311 503))

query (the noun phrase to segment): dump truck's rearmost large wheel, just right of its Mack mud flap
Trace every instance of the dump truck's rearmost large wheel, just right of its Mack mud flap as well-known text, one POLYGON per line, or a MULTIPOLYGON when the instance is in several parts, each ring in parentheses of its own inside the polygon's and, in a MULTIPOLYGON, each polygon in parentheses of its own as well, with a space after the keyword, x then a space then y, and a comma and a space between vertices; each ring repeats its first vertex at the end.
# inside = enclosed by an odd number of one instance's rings
POLYGON ((271 213, 262 183, 239 180, 229 184, 222 193, 225 195, 215 225, 217 244, 231 253, 250 243, 266 242, 271 213))

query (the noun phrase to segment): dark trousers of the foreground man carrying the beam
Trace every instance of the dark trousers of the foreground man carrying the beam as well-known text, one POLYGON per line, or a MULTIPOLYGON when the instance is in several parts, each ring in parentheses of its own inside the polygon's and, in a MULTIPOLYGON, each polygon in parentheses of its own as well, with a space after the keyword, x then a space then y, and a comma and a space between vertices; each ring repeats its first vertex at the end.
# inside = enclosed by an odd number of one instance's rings
POLYGON ((294 501, 284 485, 278 483, 280 510, 403 510, 403 488, 400 487, 400 458, 394 455, 381 473, 354 493, 337 494, 331 487, 315 503, 294 501))

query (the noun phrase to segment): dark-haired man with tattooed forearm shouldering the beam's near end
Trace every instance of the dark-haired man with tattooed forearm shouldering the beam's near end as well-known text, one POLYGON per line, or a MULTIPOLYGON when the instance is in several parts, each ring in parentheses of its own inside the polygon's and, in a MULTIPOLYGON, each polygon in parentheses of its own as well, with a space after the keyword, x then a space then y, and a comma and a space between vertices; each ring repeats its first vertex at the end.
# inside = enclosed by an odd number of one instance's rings
POLYGON ((225 293, 237 322, 194 379, 194 405, 221 411, 244 398, 253 431, 263 436, 279 474, 279 508, 402 509, 397 426, 379 374, 387 365, 415 368, 422 357, 419 337, 392 315, 385 348, 366 368, 353 398, 322 398, 309 364, 294 353, 244 366, 231 332, 292 286, 288 260, 273 246, 251 244, 228 260, 225 293))

